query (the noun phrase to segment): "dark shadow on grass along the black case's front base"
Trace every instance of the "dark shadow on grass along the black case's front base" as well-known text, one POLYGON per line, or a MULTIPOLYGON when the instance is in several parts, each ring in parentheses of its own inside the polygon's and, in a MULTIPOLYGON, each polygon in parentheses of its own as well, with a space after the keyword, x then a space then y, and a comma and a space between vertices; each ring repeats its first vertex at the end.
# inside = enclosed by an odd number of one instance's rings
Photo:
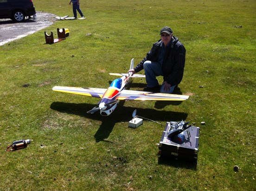
POLYGON ((165 165, 165 166, 173 166, 175 168, 186 168, 194 171, 197 170, 197 163, 189 162, 186 160, 167 159, 167 158, 160 157, 158 159, 158 164, 165 165))

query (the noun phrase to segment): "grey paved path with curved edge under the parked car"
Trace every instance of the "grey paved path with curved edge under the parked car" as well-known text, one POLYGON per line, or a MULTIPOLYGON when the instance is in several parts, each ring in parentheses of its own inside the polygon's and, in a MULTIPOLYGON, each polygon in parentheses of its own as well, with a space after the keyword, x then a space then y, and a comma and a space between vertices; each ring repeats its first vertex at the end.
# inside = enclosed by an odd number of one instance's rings
POLYGON ((0 19, 0 46, 26 37, 56 22, 54 14, 37 11, 36 15, 37 19, 25 19, 20 23, 15 23, 11 19, 0 19))

